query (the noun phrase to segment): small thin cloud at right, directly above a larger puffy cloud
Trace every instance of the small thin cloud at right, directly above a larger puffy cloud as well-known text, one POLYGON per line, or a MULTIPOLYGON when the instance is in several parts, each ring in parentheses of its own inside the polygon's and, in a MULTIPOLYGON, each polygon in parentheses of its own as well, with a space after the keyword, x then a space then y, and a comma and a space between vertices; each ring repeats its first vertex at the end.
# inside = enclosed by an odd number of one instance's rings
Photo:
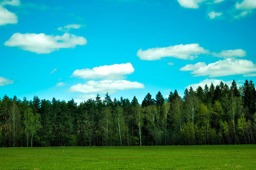
POLYGON ((242 49, 236 50, 222 50, 220 53, 212 53, 213 56, 217 56, 220 58, 243 58, 246 56, 246 51, 242 49))

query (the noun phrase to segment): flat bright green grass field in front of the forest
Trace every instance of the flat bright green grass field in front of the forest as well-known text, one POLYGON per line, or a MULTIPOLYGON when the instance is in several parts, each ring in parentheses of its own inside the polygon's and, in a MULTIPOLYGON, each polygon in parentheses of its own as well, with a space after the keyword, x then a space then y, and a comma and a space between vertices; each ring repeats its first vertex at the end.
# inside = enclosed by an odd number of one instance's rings
POLYGON ((0 148, 1 169, 256 169, 256 145, 0 148))

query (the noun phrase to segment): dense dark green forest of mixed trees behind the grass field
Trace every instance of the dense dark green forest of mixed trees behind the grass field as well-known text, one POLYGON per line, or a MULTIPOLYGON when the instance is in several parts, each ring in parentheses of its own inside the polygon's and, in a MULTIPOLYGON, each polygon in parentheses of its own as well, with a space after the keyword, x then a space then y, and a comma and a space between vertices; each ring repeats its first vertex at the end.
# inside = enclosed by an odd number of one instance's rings
POLYGON ((0 98, 0 147, 255 144, 253 81, 104 100, 0 98))

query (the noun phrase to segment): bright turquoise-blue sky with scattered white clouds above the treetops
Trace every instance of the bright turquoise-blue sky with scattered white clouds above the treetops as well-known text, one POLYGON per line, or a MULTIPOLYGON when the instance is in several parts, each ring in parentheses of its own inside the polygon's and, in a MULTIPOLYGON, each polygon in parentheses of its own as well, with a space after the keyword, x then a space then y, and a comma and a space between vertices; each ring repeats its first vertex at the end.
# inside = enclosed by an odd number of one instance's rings
POLYGON ((0 97, 139 102, 256 76, 256 0, 0 0, 0 97))

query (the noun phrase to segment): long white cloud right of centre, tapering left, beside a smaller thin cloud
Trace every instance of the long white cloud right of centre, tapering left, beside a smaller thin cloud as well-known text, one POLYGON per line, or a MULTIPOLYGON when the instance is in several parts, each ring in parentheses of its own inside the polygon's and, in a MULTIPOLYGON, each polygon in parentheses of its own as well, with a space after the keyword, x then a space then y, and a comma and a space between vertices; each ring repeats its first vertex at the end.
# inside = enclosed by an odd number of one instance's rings
POLYGON ((198 43, 180 44, 170 47, 154 48, 147 50, 138 50, 137 56, 143 60, 157 60, 165 57, 179 58, 179 59, 193 59, 198 54, 206 54, 208 50, 200 47, 198 43))

